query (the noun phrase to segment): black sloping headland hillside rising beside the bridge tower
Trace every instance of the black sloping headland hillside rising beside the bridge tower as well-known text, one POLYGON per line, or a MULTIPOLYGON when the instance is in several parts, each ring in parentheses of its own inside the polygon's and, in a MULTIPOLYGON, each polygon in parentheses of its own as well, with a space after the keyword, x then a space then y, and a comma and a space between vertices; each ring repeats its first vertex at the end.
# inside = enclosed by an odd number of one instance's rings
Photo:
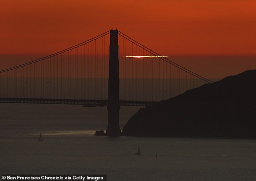
POLYGON ((123 135, 256 138, 256 70, 141 108, 123 135))

